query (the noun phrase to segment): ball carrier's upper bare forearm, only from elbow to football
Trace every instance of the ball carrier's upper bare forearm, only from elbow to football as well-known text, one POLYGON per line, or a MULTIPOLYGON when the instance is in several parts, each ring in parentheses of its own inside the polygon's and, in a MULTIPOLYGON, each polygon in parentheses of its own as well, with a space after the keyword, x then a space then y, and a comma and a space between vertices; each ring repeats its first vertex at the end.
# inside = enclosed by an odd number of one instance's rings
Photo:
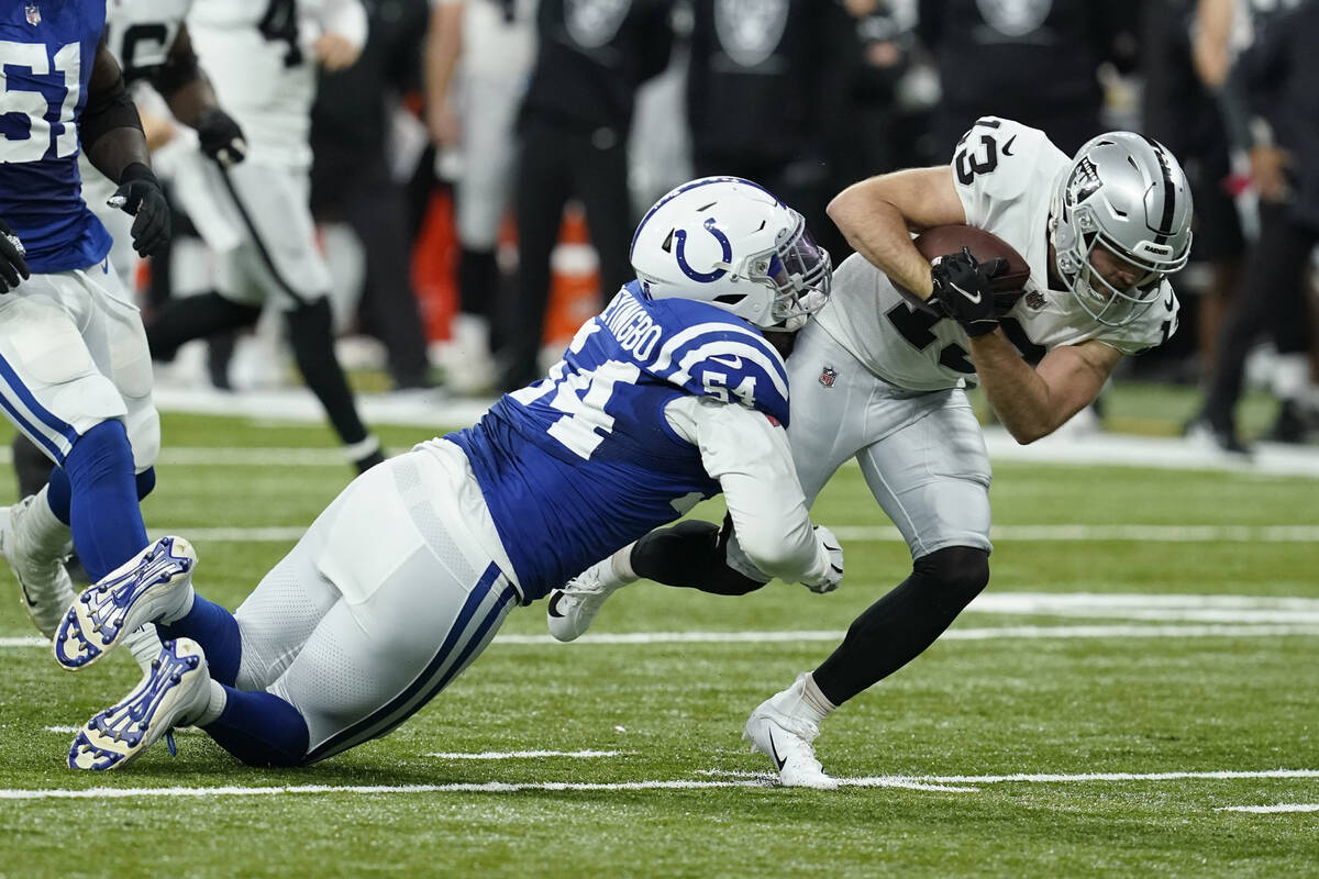
POLYGON ((930 264, 911 244, 904 212, 885 195, 886 178, 853 183, 828 204, 830 219, 868 262, 922 299, 930 297, 930 264))

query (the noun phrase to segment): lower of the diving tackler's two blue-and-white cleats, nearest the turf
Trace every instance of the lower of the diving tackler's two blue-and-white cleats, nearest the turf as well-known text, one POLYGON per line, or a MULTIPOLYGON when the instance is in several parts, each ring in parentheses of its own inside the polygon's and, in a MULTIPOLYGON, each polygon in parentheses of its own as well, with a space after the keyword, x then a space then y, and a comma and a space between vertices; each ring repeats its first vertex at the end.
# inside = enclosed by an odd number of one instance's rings
POLYGON ((211 675, 202 646, 190 638, 166 640, 133 692, 94 716, 78 733, 69 749, 69 768, 128 766, 175 726, 200 717, 210 700, 211 675))

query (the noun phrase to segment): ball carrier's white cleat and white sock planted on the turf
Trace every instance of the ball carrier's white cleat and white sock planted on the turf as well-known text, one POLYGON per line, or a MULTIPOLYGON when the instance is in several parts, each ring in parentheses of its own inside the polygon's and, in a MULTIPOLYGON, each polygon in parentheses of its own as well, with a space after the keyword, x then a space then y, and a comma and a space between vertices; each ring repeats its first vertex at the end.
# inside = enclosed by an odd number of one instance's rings
POLYGON ((824 772, 815 758, 819 723, 832 705, 822 701, 810 672, 802 672, 793 685, 761 702, 743 729, 752 752, 774 762, 783 787, 806 787, 832 791, 838 780, 824 772))

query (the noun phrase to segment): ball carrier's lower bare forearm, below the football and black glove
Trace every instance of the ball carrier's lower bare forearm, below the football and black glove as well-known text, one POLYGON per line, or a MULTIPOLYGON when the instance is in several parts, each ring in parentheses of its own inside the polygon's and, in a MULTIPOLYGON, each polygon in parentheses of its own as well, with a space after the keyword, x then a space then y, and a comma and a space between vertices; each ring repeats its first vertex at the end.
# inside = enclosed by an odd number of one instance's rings
POLYGON ((971 339, 971 358, 995 414, 1022 445, 1053 434, 1071 415, 1058 411, 1049 385, 1001 329, 971 339))

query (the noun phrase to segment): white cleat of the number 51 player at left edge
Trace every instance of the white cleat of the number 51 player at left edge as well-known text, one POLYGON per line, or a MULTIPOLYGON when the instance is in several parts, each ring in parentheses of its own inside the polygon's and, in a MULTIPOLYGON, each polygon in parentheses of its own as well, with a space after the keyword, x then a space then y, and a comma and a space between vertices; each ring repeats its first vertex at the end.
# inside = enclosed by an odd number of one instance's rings
POLYGON ((13 506, 0 507, 0 555, 13 568, 22 590, 22 606, 46 638, 54 638, 59 621, 78 594, 65 561, 73 543, 65 534, 42 540, 33 532, 32 505, 45 503, 29 494, 13 506))

